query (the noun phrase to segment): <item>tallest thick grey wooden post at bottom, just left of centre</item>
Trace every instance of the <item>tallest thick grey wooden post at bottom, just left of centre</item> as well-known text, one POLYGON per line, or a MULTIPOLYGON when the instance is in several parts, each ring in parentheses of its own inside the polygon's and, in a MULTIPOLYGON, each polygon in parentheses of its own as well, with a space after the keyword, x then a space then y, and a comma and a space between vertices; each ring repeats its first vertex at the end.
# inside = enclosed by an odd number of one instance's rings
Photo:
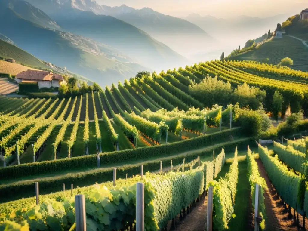
POLYGON ((144 183, 137 183, 136 190, 136 231, 144 231, 144 183))

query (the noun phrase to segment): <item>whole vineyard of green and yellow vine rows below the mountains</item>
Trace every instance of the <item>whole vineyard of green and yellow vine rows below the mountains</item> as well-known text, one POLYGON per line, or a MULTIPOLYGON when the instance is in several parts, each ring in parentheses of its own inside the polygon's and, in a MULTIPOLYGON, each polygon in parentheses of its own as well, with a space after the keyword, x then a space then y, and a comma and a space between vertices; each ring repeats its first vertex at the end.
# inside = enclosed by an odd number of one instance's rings
MULTIPOLYGON (((259 112, 232 105, 231 100, 209 105, 213 99, 192 91, 211 77, 228 81, 234 89, 244 83, 258 87, 268 111, 276 90, 284 99, 283 108, 308 109, 307 73, 235 61, 154 72, 67 98, 0 96, 0 222, 5 221, 0 230, 13 226, 27 230, 41 222, 47 230, 75 230, 75 194, 86 196, 89 230, 131 230, 136 182, 145 185, 147 230, 185 224, 184 217, 193 213, 198 201, 207 200, 209 187, 213 188, 213 230, 249 230, 247 224, 253 227, 254 221, 247 211, 255 207, 249 200, 258 184, 263 230, 271 225, 264 196, 270 186, 261 177, 261 167, 281 200, 306 216, 306 138, 274 142, 272 150, 256 145, 250 137, 258 131, 245 124, 245 116, 259 112), (247 151, 247 145, 252 151, 247 151), (288 187, 283 187, 282 179, 288 187), (31 206, 36 182, 40 202, 31 206), (69 191, 71 184, 78 188, 69 191), (52 219, 51 208, 55 209, 52 219), (29 218, 33 212, 41 218, 29 218), (12 213, 19 214, 18 220, 10 218, 12 213)), ((295 220, 305 226, 305 220, 295 220)))

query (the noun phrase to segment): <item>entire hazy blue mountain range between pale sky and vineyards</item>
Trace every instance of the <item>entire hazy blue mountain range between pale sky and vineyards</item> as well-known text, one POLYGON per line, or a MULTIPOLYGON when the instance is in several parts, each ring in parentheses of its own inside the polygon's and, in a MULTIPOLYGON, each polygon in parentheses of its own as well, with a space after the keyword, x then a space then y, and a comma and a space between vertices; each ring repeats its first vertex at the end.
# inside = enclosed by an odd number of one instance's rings
MULTIPOLYGON (((289 15, 288 15, 289 16, 289 15)), ((95 0, 0 0, 1 38, 39 59, 110 84, 138 71, 219 58, 288 16, 185 18, 95 0), (5 36, 5 37, 4 37, 5 36)))

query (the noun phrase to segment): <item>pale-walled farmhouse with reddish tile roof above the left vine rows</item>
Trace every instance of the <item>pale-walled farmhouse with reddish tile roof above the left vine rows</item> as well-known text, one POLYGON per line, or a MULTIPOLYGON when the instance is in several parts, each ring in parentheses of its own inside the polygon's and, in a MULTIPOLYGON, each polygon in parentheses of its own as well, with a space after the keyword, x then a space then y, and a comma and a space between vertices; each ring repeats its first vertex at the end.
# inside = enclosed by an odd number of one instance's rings
POLYGON ((17 83, 38 83, 39 88, 60 87, 61 84, 65 84, 65 80, 62 75, 53 74, 48 71, 36 70, 22 71, 16 75, 15 80, 17 83))

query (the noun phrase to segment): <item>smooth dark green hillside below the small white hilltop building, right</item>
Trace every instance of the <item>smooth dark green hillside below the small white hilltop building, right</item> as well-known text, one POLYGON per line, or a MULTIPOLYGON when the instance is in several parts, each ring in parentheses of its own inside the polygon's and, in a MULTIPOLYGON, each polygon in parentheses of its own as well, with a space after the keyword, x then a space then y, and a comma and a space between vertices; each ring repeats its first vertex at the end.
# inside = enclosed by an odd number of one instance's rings
POLYGON ((244 54, 232 57, 232 60, 254 60, 262 62, 269 58, 268 63, 277 65, 280 60, 289 57, 294 61, 295 70, 308 71, 308 63, 305 57, 308 55, 308 47, 297 39, 283 36, 282 39, 273 39, 262 44, 258 49, 247 51, 244 54))

